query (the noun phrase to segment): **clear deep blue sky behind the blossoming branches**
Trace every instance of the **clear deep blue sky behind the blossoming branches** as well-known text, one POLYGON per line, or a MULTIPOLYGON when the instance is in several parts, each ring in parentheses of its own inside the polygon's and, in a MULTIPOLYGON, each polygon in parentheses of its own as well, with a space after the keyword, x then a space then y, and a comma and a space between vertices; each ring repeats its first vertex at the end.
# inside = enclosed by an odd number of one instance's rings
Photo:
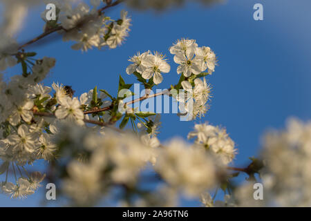
MULTIPOLYGON (((122 8, 109 10, 108 14, 117 17, 122 8)), ((311 119, 310 8, 308 0, 227 0, 212 8, 189 3, 162 13, 129 10, 133 26, 125 44, 117 49, 82 53, 71 50, 72 43, 58 39, 26 50, 38 52, 38 57, 57 59, 45 84, 59 81, 73 86, 76 95, 97 85, 115 95, 119 75, 126 83, 135 82, 133 76, 126 75, 125 68, 129 56, 138 51, 166 54, 171 73, 163 75, 158 88, 176 84, 177 66, 168 48, 182 37, 196 39, 199 46, 211 47, 219 60, 215 73, 207 77, 213 86, 211 108, 196 122, 180 122, 176 115, 162 115, 160 140, 187 137, 195 123, 222 125, 238 148, 234 165, 246 166, 247 158, 257 155, 267 128, 282 128, 289 116, 311 119), (255 3, 263 4, 263 21, 253 19, 255 3)), ((41 33, 42 10, 44 6, 32 11, 19 34, 20 41, 41 33)), ((0 206, 36 206, 39 200, 39 193, 27 200, 9 200, 0 195, 0 206)))

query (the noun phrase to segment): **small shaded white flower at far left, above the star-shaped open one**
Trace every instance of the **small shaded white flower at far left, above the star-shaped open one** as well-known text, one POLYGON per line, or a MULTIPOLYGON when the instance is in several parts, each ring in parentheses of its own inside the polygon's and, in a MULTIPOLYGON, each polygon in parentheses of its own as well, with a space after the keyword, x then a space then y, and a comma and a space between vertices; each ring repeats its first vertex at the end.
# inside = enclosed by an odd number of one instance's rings
POLYGON ((19 122, 21 122, 21 119, 23 119, 25 122, 30 122, 32 119, 32 108, 34 104, 32 101, 28 101, 23 106, 17 107, 15 111, 13 111, 13 114, 9 118, 9 122, 12 125, 17 125, 19 122))

